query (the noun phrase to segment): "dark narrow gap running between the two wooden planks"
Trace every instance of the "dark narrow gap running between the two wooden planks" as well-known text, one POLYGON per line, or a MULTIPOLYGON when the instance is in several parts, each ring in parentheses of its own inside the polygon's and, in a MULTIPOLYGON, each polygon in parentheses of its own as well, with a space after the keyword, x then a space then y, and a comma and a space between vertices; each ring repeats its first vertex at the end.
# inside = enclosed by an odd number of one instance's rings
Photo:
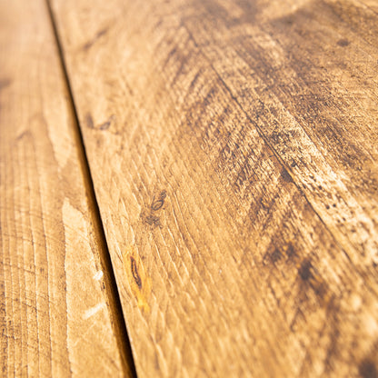
POLYGON ((108 250, 106 238, 104 235, 104 226, 101 220, 101 214, 100 214, 97 200, 94 194, 94 184, 93 184, 92 175, 89 169, 89 165, 88 165, 88 161, 87 161, 87 157, 85 153, 85 144, 83 141, 83 136, 79 127, 79 120, 78 120, 76 109, 75 109, 74 97, 72 94, 69 77, 68 77, 66 67, 65 67, 65 57, 63 55, 62 46, 59 40, 59 35, 56 30, 55 18, 54 18, 54 15, 53 15, 53 12, 52 12, 52 9, 48 0, 46 0, 46 6, 48 9, 48 13, 50 15, 50 20, 51 20, 51 25, 52 25, 53 32, 55 35, 56 45, 59 51, 59 57, 62 64, 62 70, 65 75, 65 83, 67 85, 68 93, 70 95, 69 102, 72 107, 72 113, 75 116, 75 130, 73 134, 75 135, 76 143, 78 145, 78 150, 81 152, 80 164, 83 169, 83 175, 85 177, 85 186, 86 186, 85 189, 89 197, 89 203, 92 205, 92 210, 94 214, 93 223, 94 223, 95 232, 97 234, 97 240, 101 244, 99 249, 102 252, 100 254, 100 257, 101 257, 101 263, 104 266, 104 281, 107 286, 106 293, 108 293, 109 295, 109 303, 111 305, 112 316, 113 316, 112 322, 114 326, 114 333, 117 338, 118 347, 119 347, 120 354, 122 357, 122 362, 124 365, 124 376, 130 377, 130 378, 136 378, 137 375, 135 371, 135 365, 134 365, 134 359, 133 359, 133 354, 131 350, 130 340, 129 340, 129 336, 128 336, 125 321, 124 321, 124 314, 122 311, 117 284, 114 277, 113 266, 110 260, 109 250, 108 250))

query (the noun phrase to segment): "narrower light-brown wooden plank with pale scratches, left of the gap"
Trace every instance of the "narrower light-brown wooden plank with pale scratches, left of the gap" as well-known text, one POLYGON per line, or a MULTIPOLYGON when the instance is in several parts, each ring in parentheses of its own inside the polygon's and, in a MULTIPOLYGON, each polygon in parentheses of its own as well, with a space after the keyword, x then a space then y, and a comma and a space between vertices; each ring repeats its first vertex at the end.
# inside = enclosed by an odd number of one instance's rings
POLYGON ((46 4, 2 0, 0 24, 0 375, 127 376, 46 4))

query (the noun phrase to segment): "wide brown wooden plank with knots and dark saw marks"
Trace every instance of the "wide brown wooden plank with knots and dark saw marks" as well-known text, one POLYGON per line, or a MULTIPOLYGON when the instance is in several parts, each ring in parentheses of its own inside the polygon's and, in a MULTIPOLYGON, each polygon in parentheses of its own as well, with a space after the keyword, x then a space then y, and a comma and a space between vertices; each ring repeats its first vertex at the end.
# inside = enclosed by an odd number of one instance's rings
POLYGON ((51 2, 138 375, 376 376, 372 8, 51 2))

